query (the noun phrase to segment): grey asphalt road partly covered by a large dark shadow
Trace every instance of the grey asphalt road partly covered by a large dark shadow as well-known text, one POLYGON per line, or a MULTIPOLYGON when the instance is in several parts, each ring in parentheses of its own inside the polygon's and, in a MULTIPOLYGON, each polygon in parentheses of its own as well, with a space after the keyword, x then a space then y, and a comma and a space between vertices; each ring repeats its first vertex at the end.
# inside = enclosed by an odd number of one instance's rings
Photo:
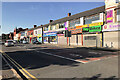
POLYGON ((37 79, 118 77, 117 52, 46 44, 16 44, 2 50, 37 79))

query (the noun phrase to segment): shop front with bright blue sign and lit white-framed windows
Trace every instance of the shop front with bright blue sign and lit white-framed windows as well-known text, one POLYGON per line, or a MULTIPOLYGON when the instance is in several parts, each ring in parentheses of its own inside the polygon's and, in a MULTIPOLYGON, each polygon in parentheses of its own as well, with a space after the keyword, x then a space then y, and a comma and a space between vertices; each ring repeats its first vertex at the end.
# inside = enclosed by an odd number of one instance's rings
POLYGON ((57 32, 47 32, 43 34, 44 43, 57 44, 57 32))

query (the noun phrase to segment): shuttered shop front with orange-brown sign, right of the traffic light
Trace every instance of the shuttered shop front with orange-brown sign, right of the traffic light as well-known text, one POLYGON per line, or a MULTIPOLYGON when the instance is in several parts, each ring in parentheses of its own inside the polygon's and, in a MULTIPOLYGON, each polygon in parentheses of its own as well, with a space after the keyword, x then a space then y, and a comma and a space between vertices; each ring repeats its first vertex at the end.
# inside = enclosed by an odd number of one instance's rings
POLYGON ((70 45, 82 45, 82 26, 76 26, 73 29, 69 29, 71 31, 71 37, 69 44, 70 45))

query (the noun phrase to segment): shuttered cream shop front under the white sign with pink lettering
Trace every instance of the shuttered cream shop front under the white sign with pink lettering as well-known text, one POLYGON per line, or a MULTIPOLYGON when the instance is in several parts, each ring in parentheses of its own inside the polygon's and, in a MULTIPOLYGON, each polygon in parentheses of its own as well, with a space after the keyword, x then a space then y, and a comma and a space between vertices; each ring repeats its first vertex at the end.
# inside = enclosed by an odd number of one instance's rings
POLYGON ((120 24, 105 24, 103 26, 103 41, 104 46, 107 48, 120 48, 119 44, 119 33, 120 33, 120 24))

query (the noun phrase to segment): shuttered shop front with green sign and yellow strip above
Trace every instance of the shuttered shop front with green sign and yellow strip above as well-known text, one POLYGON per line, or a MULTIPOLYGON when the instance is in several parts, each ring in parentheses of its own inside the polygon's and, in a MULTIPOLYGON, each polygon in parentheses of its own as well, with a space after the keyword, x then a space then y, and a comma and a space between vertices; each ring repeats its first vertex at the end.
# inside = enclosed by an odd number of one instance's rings
POLYGON ((102 47, 102 25, 89 24, 82 28, 83 46, 85 47, 102 47))

